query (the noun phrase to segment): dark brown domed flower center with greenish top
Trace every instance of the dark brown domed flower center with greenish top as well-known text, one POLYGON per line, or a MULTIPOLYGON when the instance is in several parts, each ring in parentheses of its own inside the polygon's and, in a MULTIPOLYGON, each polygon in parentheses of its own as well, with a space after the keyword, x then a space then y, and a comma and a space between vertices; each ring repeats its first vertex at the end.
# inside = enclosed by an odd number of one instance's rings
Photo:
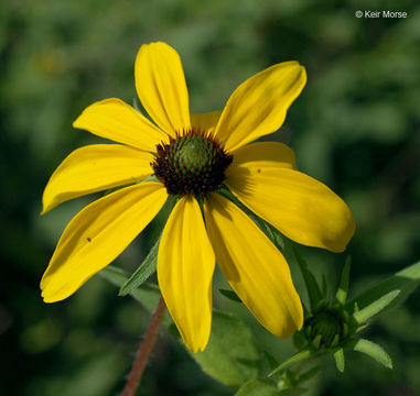
POLYGON ((216 139, 191 129, 159 144, 151 166, 168 194, 203 196, 222 188, 231 161, 216 139))

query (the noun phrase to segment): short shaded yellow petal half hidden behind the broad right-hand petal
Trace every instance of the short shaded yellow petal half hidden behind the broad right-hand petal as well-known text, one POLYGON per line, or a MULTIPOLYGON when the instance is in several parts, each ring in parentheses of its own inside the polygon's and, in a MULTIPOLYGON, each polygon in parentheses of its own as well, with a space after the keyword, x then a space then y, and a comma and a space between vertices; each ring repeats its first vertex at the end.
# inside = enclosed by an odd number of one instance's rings
POLYGON ((284 167, 295 169, 293 150, 283 143, 258 142, 247 144, 234 153, 230 167, 284 167))

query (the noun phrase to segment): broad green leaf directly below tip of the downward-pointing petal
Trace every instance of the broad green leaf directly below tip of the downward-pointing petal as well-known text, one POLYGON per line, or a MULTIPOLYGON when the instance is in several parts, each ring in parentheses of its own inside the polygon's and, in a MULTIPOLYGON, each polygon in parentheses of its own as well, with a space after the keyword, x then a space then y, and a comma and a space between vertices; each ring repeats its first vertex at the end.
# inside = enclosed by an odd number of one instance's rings
POLYGON ((204 352, 192 354, 203 371, 229 387, 257 378, 260 356, 249 329, 235 315, 213 310, 212 333, 204 352))

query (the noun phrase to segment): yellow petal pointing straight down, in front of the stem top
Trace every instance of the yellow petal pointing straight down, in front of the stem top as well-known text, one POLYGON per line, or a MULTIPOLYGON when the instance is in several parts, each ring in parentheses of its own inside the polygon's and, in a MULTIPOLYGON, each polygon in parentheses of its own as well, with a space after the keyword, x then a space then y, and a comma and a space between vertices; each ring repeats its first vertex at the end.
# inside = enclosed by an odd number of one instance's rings
POLYGON ((195 198, 184 196, 164 227, 158 254, 158 280, 185 345, 203 351, 212 326, 215 257, 195 198))

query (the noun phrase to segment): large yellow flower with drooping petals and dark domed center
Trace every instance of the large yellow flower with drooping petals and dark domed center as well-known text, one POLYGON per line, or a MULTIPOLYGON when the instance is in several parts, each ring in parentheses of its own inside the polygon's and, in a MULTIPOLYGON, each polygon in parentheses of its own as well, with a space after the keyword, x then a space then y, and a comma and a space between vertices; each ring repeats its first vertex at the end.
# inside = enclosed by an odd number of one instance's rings
POLYGON ((277 64, 241 84, 222 112, 190 114, 177 53, 164 43, 141 46, 136 88, 158 127, 119 99, 89 106, 74 122, 120 144, 71 153, 45 188, 43 212, 85 194, 131 186, 90 204, 69 222, 41 280, 44 300, 71 296, 111 263, 173 195, 180 199, 162 233, 158 280, 190 350, 204 350, 208 341, 215 261, 266 329, 279 337, 300 329, 302 306, 284 257, 217 190, 227 186, 299 243, 333 252, 345 249, 354 220, 344 201, 298 172, 287 145, 249 144, 280 128, 305 81, 299 63, 277 64), (158 182, 137 183, 150 175, 158 182))

